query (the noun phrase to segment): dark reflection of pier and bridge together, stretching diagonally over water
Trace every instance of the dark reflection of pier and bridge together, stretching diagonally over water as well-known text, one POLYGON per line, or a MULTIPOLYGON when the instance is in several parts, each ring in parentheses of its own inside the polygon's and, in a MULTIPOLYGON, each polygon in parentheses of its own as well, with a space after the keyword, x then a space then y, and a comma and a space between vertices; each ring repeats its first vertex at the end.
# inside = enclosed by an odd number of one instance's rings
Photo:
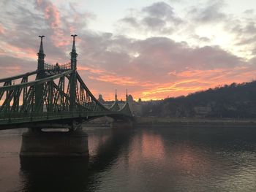
POLYGON ((97 142, 91 137, 89 145, 96 153, 90 158, 20 158, 23 191, 96 190, 99 173, 109 169, 119 153, 129 146, 130 133, 130 130, 108 130, 108 136, 98 137, 101 139, 97 142))

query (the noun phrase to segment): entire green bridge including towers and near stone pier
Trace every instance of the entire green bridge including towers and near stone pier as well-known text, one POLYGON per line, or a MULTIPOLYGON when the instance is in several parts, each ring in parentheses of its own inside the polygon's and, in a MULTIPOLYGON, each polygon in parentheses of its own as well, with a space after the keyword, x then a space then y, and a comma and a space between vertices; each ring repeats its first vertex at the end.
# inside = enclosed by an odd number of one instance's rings
POLYGON ((67 64, 45 63, 44 36, 39 36, 37 70, 0 80, 0 130, 29 128, 23 134, 20 154, 85 155, 87 137, 81 132, 81 123, 102 116, 122 122, 132 119, 128 102, 120 109, 116 99, 108 109, 89 91, 77 72, 76 36, 72 35, 67 64), (69 133, 42 133, 42 128, 53 127, 68 128, 69 133), (36 146, 38 141, 40 145, 36 146))

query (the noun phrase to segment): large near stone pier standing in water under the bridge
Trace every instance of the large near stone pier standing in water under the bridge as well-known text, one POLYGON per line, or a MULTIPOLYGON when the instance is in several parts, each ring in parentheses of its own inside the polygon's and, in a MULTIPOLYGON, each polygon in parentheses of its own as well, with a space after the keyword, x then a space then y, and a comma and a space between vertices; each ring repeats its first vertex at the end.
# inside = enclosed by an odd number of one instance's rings
POLYGON ((21 157, 86 157, 89 156, 88 135, 75 131, 42 131, 29 128, 22 135, 21 157))

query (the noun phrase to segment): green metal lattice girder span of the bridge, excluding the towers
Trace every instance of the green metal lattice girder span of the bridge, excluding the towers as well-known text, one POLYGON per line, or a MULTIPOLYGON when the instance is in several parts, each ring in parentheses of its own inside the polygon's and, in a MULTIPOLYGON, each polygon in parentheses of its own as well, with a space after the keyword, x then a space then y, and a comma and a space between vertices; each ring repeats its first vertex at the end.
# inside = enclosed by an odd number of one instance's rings
POLYGON ((75 80, 75 111, 70 111, 70 76, 72 71, 55 74, 43 79, 26 82, 18 85, 9 85, 0 88, 0 96, 7 94, 0 107, 0 125, 15 125, 17 123, 36 123, 48 120, 71 120, 76 118, 87 119, 89 117, 131 116, 129 105, 125 104, 121 110, 110 111, 95 99, 89 88, 84 84, 80 75, 76 74, 75 80), (65 86, 65 80, 68 81, 65 86), (55 82, 56 81, 56 82, 55 82), (35 106, 35 88, 42 85, 42 100, 35 106), (22 95, 21 93, 26 92, 22 95), (20 98, 20 99, 18 99, 20 98), (12 101, 12 102, 11 102, 12 101), (20 105, 20 103, 22 103, 20 105), (43 109, 45 108, 45 110, 43 109))

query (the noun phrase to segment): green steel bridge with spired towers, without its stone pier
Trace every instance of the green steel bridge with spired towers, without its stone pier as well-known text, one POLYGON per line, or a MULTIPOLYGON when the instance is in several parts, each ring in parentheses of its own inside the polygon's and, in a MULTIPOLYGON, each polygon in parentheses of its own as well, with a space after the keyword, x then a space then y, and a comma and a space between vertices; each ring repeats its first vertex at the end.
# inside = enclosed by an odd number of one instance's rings
POLYGON ((89 91, 77 72, 76 35, 72 35, 71 60, 64 65, 45 64, 44 36, 39 37, 37 70, 0 80, 0 130, 53 126, 75 129, 86 120, 102 116, 132 118, 127 102, 120 109, 116 99, 108 109, 89 91))

